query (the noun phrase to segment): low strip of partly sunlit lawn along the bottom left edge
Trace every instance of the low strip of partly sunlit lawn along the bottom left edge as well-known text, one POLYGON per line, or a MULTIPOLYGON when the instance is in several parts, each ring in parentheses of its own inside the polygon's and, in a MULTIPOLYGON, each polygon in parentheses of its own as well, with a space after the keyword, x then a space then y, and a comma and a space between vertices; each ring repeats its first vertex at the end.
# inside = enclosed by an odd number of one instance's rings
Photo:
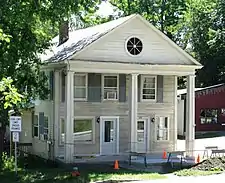
MULTIPOLYGON (((77 182, 94 182, 100 180, 150 180, 166 178, 163 175, 157 173, 143 173, 127 170, 115 170, 114 172, 84 172, 81 171, 81 176, 72 177, 70 171, 65 171, 60 168, 41 169, 41 170, 29 170, 19 171, 18 180, 21 183, 77 183, 77 182)), ((12 171, 3 171, 0 173, 1 182, 14 183, 15 173, 12 171)))

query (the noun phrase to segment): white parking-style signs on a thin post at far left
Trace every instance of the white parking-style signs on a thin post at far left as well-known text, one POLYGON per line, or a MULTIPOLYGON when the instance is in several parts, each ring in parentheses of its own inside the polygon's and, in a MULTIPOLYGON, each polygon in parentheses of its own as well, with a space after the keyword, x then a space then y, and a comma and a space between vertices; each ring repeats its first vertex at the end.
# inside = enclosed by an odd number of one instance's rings
POLYGON ((21 132, 21 117, 10 116, 10 133, 12 132, 12 141, 15 143, 15 173, 17 175, 17 142, 19 142, 19 132, 21 132))

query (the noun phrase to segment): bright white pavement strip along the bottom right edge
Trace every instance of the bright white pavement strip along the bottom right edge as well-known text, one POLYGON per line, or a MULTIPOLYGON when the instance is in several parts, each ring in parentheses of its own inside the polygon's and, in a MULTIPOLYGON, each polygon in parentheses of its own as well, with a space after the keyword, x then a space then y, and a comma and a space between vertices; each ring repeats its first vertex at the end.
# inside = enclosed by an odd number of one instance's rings
POLYGON ((190 182, 224 183, 224 180, 225 180, 225 173, 219 174, 219 175, 196 176, 196 177, 194 176, 178 177, 178 176, 169 174, 167 179, 134 181, 129 183, 190 183, 190 182))

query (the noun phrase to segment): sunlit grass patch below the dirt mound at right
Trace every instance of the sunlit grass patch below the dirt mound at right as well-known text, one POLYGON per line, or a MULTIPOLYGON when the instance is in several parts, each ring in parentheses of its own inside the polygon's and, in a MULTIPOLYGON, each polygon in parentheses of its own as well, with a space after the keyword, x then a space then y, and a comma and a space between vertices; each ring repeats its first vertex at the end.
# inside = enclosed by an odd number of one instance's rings
POLYGON ((223 171, 221 170, 212 170, 212 171, 204 171, 204 170, 194 170, 194 169, 183 169, 174 172, 177 176, 207 176, 207 175, 215 175, 220 174, 223 171))

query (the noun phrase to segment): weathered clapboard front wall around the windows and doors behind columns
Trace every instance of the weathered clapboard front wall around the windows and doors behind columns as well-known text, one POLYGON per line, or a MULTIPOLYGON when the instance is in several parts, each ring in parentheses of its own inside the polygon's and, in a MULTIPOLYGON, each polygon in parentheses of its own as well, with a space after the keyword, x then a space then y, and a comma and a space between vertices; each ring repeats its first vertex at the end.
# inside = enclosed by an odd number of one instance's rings
MULTIPOLYGON (((127 77, 128 82, 128 77, 127 77)), ((171 150, 174 148, 174 76, 163 76, 163 102, 138 102, 138 116, 150 117, 151 119, 155 115, 166 115, 170 118, 170 136, 168 142, 160 142, 155 139, 155 124, 150 124, 150 141, 149 147, 151 152, 161 152, 162 149, 171 150)), ((129 85, 126 85, 128 90, 129 85)), ((126 92, 128 95, 128 92, 126 92)), ((126 96, 127 98, 127 96, 126 96)), ((74 103, 74 115, 75 116, 119 116, 119 149, 120 153, 129 151, 130 144, 130 123, 128 118, 129 106, 128 101, 104 101, 104 102, 76 102, 74 103)), ((64 117, 64 103, 60 104, 60 116, 64 117)), ((95 123, 95 143, 94 144, 75 144, 75 154, 99 154, 100 146, 100 124, 95 123)), ((60 153, 63 153, 63 147, 61 147, 60 153)))

